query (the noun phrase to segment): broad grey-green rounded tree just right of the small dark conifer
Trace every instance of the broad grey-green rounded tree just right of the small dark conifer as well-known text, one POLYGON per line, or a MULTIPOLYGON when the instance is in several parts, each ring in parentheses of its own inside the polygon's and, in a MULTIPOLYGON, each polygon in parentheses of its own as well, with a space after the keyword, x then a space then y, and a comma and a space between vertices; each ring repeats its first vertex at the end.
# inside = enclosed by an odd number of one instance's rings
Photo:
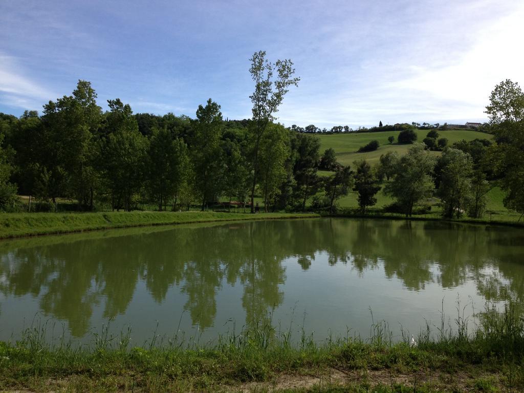
POLYGON ((386 184, 385 194, 396 200, 406 216, 411 216, 413 206, 431 196, 434 183, 431 177, 435 158, 424 149, 424 144, 414 144, 402 156, 396 167, 393 181, 386 184))

